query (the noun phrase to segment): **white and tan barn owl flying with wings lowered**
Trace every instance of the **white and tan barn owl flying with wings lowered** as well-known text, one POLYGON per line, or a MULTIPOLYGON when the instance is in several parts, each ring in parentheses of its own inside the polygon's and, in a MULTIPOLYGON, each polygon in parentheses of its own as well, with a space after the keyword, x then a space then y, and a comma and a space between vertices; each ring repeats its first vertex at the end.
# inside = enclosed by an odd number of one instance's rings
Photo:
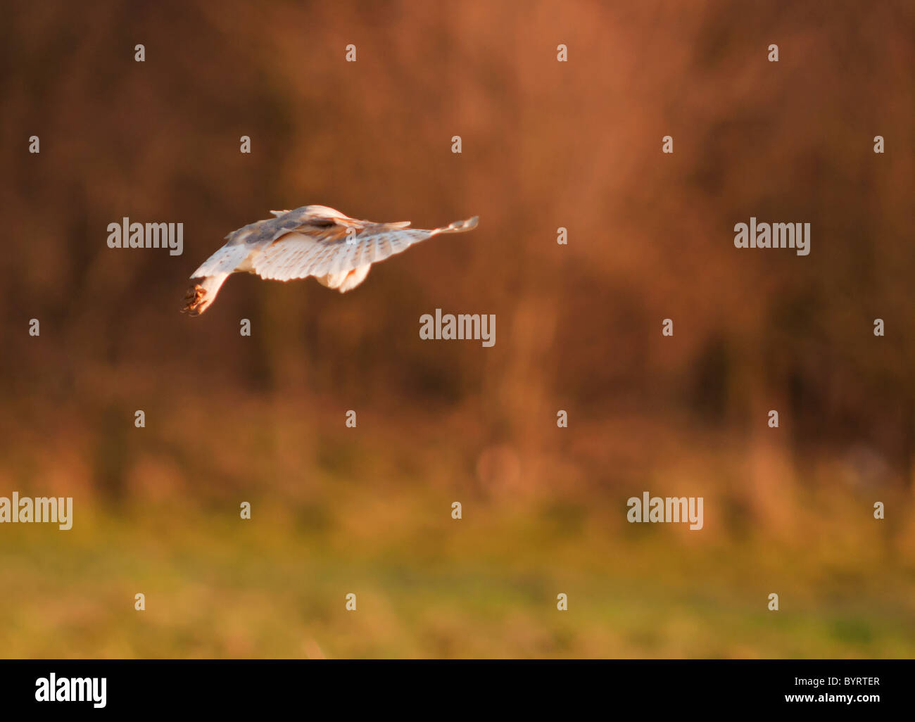
POLYGON ((315 276, 318 283, 346 293, 369 275, 371 264, 439 233, 472 231, 479 218, 423 231, 410 221, 358 221, 327 206, 271 210, 275 218, 255 221, 226 236, 222 248, 190 275, 202 279, 185 297, 183 312, 199 316, 231 274, 247 271, 288 281, 315 276))

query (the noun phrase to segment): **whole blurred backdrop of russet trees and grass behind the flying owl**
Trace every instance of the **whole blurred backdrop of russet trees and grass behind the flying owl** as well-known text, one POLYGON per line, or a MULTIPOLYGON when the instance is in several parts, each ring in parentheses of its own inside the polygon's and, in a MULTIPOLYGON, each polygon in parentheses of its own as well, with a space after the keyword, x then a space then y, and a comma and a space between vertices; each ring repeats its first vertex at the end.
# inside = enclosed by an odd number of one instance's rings
POLYGON ((910 3, 3 16, 0 495, 74 523, 0 526, 0 655, 915 654, 910 3), (343 296, 245 275, 178 313, 306 204, 480 223, 343 296), (109 249, 124 216, 184 254, 109 249), (811 254, 738 252, 750 216, 811 254), (495 347, 421 341, 436 307, 495 347), (627 523, 644 490, 705 528, 627 523))

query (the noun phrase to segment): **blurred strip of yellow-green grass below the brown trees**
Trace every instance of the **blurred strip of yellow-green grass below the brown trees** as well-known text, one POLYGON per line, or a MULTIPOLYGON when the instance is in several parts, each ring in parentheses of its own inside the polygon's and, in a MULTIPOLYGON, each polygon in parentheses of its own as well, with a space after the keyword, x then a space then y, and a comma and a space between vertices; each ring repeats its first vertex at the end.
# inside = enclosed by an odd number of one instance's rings
POLYGON ((603 533, 588 512, 557 523, 552 512, 512 512, 511 501, 465 507, 454 521, 435 493, 340 497, 334 514, 255 502, 242 521, 229 506, 147 504, 116 514, 77 507, 70 532, 9 526, 0 649, 128 658, 915 655, 915 577, 891 551, 843 560, 828 545, 689 538, 673 525, 603 533), (778 612, 767 609, 770 591, 780 593, 778 612), (136 592, 145 611, 134 609, 136 592), (350 592, 355 612, 344 608, 350 592), (555 607, 559 592, 568 611, 555 607))

